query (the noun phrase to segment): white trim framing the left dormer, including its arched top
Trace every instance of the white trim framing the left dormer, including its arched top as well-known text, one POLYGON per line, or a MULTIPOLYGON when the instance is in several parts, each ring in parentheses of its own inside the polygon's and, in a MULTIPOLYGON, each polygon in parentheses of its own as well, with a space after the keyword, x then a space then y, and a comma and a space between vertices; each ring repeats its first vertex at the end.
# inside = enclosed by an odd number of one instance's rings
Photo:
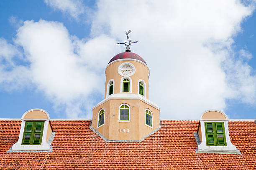
POLYGON ((22 117, 21 117, 21 126, 20 126, 20 135, 17 143, 13 144, 12 150, 49 150, 50 145, 46 141, 46 135, 47 135, 47 130, 48 130, 48 125, 49 125, 50 117, 48 112, 46 112, 43 109, 31 109, 26 111, 22 117), (40 110, 47 115, 47 119, 24 119, 24 116, 31 111, 34 110, 40 110), (22 139, 23 139, 23 134, 24 134, 24 129, 25 129, 25 123, 26 120, 33 120, 33 121, 44 121, 44 130, 43 130, 43 136, 42 136, 42 143, 41 145, 21 145, 22 139))

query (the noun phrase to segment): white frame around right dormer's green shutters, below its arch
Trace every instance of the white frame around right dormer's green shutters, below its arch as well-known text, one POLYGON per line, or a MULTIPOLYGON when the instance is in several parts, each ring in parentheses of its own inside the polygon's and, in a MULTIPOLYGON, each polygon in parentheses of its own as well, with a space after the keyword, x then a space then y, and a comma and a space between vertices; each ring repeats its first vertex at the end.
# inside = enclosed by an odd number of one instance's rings
POLYGON ((229 131, 228 131, 228 120, 200 120, 201 125, 201 133, 202 133, 202 141, 200 145, 198 145, 198 151, 223 151, 223 152, 236 152, 237 148, 230 141, 229 131), (205 137, 205 122, 224 122, 225 128, 225 137, 227 146, 207 146, 206 145, 206 137, 205 137))

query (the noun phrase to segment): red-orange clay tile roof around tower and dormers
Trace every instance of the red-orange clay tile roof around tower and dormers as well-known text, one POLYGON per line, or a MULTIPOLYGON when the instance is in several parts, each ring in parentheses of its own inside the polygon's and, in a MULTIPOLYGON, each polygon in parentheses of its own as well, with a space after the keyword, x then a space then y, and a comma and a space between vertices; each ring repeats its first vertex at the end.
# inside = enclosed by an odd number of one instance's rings
POLYGON ((237 154, 195 153, 199 121, 162 120, 162 127, 140 143, 105 142, 88 120, 54 120, 51 153, 6 153, 17 142, 21 121, 0 121, 0 170, 172 170, 256 169, 256 124, 230 121, 237 154))

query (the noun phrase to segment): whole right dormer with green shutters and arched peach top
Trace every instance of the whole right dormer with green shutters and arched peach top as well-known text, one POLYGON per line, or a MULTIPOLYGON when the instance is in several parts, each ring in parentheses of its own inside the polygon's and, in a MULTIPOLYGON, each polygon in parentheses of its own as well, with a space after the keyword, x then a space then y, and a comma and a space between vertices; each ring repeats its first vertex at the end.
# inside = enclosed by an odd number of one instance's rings
POLYGON ((219 110, 207 110, 200 116, 197 153, 241 154, 230 141, 228 116, 219 110))

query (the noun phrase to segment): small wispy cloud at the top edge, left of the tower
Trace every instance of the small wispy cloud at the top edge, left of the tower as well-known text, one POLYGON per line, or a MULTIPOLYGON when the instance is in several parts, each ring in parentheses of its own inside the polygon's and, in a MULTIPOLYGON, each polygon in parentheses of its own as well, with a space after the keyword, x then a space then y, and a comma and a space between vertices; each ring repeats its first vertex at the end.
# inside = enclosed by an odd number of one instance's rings
POLYGON ((44 0, 44 2, 54 10, 58 9, 62 13, 68 13, 75 19, 84 13, 84 5, 80 0, 44 0))

